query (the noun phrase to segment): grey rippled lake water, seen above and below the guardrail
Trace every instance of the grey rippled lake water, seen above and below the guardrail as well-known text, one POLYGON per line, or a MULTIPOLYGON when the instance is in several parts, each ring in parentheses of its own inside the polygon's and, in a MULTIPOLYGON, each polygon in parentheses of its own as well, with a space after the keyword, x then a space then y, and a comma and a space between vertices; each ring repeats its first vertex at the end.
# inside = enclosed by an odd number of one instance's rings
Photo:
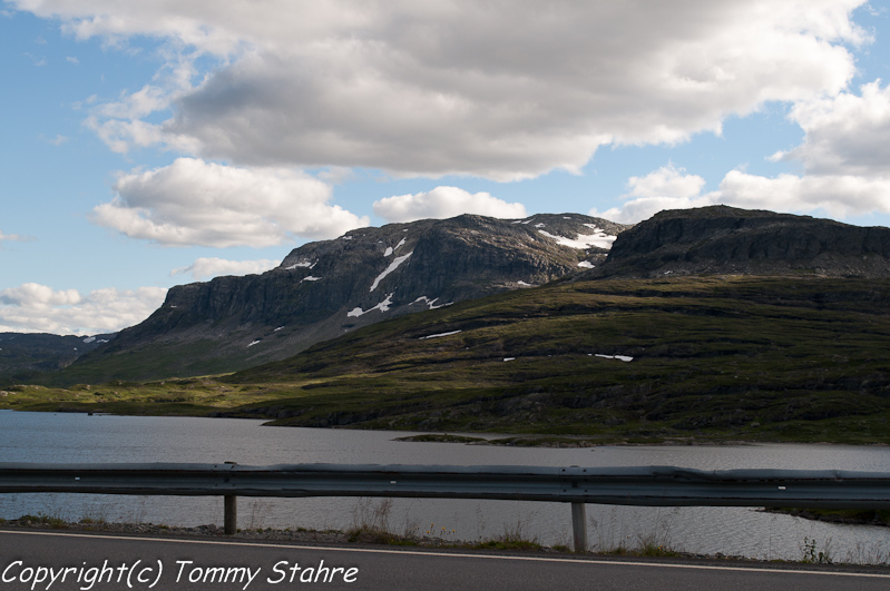
MULTIPOLYGON (((404 443, 405 433, 263 427, 261 421, 193 417, 88 416, 0 411, 0 462, 104 463, 232 461, 281 463, 676 465, 890 472, 890 449, 844 445, 604 446, 547 450, 404 443)), ((379 500, 241 499, 241 528, 346 529, 379 500)), ((0 518, 48 513, 69 520, 222 525, 222 499, 75 494, 0 494, 0 518)), ((691 552, 800 559, 805 540, 835 559, 887 559, 890 529, 833 525, 744 508, 587 505, 595 545, 637 545, 643 538, 691 552)), ((395 531, 432 531, 454 540, 496 536, 517 528, 547 544, 570 545, 569 505, 515 501, 395 499, 395 531)))

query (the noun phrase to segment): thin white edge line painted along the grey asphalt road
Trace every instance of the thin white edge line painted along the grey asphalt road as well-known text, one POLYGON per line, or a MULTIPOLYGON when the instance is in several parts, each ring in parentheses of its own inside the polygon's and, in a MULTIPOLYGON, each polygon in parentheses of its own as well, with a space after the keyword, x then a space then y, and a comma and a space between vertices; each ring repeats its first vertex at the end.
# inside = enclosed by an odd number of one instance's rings
POLYGON ((338 548, 322 545, 300 545, 300 544, 275 544, 268 542, 234 542, 223 540, 178 540, 175 538, 138 538, 135 535, 99 535, 91 533, 63 533, 63 532, 35 532, 35 531, 11 531, 0 530, 0 534, 11 533, 20 535, 56 535, 67 538, 87 538, 94 540, 129 540, 136 542, 174 542, 179 544, 211 544, 211 545, 238 545, 247 548, 287 548, 296 550, 312 550, 316 552, 359 552, 364 554, 393 554, 393 555, 418 555, 418 556, 441 556, 441 558, 471 558, 486 560, 519 560, 528 562, 566 562, 574 564, 603 564, 610 567, 653 567, 658 569, 691 569, 702 571, 743 571, 743 572, 769 572, 769 573, 793 573, 793 574, 828 574, 837 577, 860 577, 865 579, 890 579, 890 573, 869 573, 869 572, 838 572, 838 571, 806 571, 796 569, 774 569, 760 567, 721 567, 706 564, 671 564, 667 562, 638 562, 638 561, 617 561, 617 560, 585 560, 569 558, 545 558, 545 556, 505 556, 497 554, 471 554, 466 552, 420 552, 417 550, 384 550, 373 548, 338 548))

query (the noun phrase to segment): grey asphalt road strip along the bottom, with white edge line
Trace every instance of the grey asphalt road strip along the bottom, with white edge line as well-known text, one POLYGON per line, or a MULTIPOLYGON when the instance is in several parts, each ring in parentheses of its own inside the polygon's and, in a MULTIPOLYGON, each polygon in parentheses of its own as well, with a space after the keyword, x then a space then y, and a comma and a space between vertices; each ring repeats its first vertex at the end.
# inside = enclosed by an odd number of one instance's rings
POLYGON ((890 589, 890 570, 0 531, 2 591, 283 591, 313 587, 387 591, 867 591, 890 589))

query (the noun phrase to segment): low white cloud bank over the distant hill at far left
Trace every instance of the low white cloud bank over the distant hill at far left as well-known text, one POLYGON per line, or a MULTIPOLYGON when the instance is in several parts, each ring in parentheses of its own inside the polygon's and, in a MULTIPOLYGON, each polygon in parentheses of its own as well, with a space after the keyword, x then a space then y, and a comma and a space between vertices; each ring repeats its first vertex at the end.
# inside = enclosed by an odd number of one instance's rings
POLYGON ((14 333, 97 334, 133 326, 147 318, 167 290, 96 289, 81 295, 77 289, 56 290, 27 283, 0 290, 0 331, 14 333))

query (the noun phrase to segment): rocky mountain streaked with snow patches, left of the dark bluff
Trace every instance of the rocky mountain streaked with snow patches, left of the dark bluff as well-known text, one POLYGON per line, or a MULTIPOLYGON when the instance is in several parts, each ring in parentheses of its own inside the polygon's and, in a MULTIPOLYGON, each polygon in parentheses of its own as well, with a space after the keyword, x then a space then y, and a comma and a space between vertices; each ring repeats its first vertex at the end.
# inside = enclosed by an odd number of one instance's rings
POLYGON ((628 226, 579 214, 352 230, 291 252, 262 275, 174 287, 137 326, 59 382, 231 372, 394 316, 532 287, 605 260, 628 226))

